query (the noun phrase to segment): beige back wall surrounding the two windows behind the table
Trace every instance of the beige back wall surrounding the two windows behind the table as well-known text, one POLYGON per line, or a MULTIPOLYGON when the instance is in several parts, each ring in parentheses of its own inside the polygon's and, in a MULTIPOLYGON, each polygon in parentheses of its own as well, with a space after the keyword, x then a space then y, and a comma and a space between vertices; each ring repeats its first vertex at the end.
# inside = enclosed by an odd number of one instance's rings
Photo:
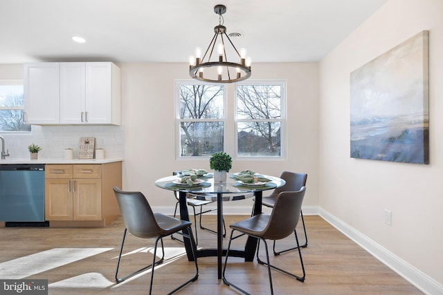
MULTIPOLYGON (((172 192, 155 187, 154 181, 172 171, 209 168, 209 160, 176 160, 174 81, 190 79, 187 64, 121 64, 125 163, 123 187, 141 190, 157 209, 173 206, 172 192)), ((270 175, 282 171, 308 173, 305 206, 318 204, 318 63, 254 64, 253 79, 286 79, 288 97, 288 159, 240 161, 231 171, 253 169, 270 175)), ((228 114, 234 112, 234 85, 228 85, 228 114)), ((228 123, 234 155, 233 121, 228 123)), ((226 202, 225 213, 248 213, 251 200, 226 202)), ((167 211, 163 208, 163 211, 167 211)))

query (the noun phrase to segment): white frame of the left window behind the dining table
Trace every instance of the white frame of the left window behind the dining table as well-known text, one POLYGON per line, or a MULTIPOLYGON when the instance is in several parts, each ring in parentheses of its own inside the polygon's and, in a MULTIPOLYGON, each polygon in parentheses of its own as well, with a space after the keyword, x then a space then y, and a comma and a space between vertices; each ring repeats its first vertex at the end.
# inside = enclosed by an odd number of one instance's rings
MULTIPOLYGON (((191 84, 191 85, 210 85, 209 83, 205 82, 196 82, 195 80, 175 80, 175 86, 174 86, 174 117, 175 117, 175 153, 176 153, 176 159, 177 160, 205 160, 207 161, 210 156, 209 155, 201 155, 201 156, 183 156, 181 155, 181 138, 180 138, 180 122, 196 122, 196 120, 193 119, 181 119, 180 118, 180 86, 183 84, 191 84)), ((223 122, 223 150, 226 151, 227 148, 227 140, 228 137, 226 136, 228 134, 227 132, 227 93, 228 88, 226 87, 226 84, 223 84, 224 90, 223 90, 223 117, 219 119, 200 119, 198 122, 223 122)))

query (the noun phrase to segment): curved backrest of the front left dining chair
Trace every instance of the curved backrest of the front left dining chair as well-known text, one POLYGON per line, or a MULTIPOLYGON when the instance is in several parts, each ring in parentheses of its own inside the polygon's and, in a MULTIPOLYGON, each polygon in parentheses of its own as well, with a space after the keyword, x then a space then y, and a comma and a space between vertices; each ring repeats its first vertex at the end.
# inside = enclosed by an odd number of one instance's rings
POLYGON ((138 238, 155 238, 163 229, 156 222, 154 213, 140 191, 121 191, 114 187, 118 207, 127 230, 138 238))

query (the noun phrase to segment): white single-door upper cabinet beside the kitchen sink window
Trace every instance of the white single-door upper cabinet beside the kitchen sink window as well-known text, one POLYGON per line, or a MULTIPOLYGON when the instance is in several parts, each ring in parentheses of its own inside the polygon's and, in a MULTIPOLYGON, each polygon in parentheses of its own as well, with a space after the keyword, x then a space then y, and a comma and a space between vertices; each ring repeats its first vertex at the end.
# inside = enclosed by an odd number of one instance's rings
POLYGON ((24 79, 25 122, 28 124, 59 124, 59 63, 25 64, 24 79))

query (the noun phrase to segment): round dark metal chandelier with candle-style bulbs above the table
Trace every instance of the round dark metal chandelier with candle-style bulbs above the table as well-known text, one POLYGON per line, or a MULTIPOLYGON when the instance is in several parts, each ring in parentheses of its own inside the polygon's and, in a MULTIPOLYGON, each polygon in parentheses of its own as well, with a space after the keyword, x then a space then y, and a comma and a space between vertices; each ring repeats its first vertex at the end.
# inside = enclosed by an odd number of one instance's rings
POLYGON ((248 79, 251 77, 251 59, 246 57, 246 49, 242 48, 239 52, 226 34, 226 27, 223 26, 224 19, 221 16, 226 12, 226 6, 216 5, 214 12, 219 15, 219 25, 215 26, 215 35, 203 57, 201 57, 201 49, 197 48, 195 57, 189 58, 189 75, 193 79, 211 83, 233 83, 248 79), (229 46, 229 44, 232 46, 229 52, 237 55, 239 63, 228 61, 226 45, 229 46), (213 55, 216 45, 217 55, 213 55))

